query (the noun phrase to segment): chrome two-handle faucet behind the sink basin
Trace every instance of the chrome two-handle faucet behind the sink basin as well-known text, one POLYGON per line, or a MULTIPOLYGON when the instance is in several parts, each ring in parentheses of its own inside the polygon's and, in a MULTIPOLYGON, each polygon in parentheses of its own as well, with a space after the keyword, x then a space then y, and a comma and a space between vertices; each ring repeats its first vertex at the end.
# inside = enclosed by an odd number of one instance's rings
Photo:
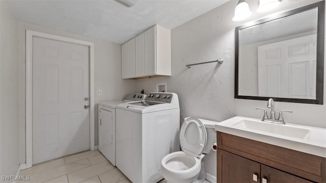
POLYGON ((283 118, 283 112, 292 113, 292 111, 289 111, 289 110, 281 110, 279 112, 279 117, 276 119, 275 108, 274 108, 274 99, 272 99, 272 98, 270 98, 268 100, 267 108, 270 108, 270 117, 268 117, 266 109, 256 107, 256 109, 264 110, 264 116, 261 120, 265 121, 265 122, 269 122, 269 123, 277 123, 277 124, 285 125, 284 118, 283 118))

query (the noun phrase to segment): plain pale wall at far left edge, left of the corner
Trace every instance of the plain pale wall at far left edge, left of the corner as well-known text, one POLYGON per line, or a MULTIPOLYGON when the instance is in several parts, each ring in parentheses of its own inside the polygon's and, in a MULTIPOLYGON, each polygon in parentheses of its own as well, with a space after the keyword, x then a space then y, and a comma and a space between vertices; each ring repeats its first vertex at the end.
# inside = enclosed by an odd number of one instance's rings
POLYGON ((19 166, 18 22, 7 1, 0 1, 0 175, 15 175, 19 166))

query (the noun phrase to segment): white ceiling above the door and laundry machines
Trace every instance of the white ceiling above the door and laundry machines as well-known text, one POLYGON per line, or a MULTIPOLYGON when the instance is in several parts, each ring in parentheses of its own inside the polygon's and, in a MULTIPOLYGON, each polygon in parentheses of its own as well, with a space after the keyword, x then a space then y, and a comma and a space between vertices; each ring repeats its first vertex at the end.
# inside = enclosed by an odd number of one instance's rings
POLYGON ((158 24, 175 28, 230 0, 140 0, 127 8, 114 0, 19 1, 18 21, 122 44, 158 24))

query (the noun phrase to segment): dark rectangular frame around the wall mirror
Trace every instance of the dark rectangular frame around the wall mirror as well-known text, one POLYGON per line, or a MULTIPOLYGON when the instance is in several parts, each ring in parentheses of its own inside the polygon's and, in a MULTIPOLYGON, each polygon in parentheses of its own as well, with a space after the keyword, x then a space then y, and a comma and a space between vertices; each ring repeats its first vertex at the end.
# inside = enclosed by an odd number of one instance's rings
POLYGON ((234 98, 235 99, 251 99, 251 100, 268 100, 273 98, 279 102, 295 102, 307 104, 323 104, 323 84, 324 84, 324 1, 317 2, 308 6, 290 10, 274 17, 268 17, 252 23, 244 24, 235 27, 235 85, 234 85, 234 98), (304 12, 317 8, 317 58, 316 58, 316 99, 294 99, 294 98, 277 98, 277 97, 258 97, 258 96, 240 96, 238 86, 239 76, 239 31, 243 28, 248 28, 254 25, 262 24, 271 20, 279 19, 282 17, 290 16, 296 13, 304 12))

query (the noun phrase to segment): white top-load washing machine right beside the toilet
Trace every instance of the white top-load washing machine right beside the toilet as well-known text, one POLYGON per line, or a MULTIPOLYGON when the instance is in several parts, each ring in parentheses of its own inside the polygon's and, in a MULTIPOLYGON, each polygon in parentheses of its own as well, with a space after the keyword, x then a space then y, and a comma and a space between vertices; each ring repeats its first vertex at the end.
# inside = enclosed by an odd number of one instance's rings
POLYGON ((162 158, 179 151, 178 96, 150 93, 146 101, 118 105, 116 113, 116 166, 132 182, 158 182, 162 158))

